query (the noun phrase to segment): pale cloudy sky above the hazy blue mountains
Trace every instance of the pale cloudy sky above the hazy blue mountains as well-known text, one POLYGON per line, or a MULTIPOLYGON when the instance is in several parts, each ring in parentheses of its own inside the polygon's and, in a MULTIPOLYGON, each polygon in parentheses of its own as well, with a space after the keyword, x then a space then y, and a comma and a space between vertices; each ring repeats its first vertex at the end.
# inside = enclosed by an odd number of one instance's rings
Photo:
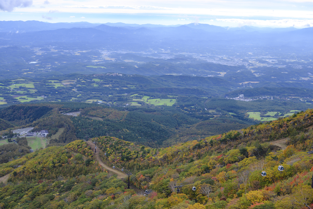
POLYGON ((313 0, 0 0, 0 20, 313 26, 313 0))

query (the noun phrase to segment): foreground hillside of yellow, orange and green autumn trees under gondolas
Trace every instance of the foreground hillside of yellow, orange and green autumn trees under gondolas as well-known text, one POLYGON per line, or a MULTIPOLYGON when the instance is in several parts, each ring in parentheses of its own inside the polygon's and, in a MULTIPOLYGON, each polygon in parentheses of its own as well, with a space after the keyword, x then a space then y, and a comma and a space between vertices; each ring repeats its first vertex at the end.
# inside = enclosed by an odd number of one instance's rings
POLYGON ((49 209, 311 207, 313 161, 306 151, 313 145, 312 124, 313 110, 307 110, 161 149, 109 136, 93 138, 107 165, 132 172, 135 190, 127 189, 127 179, 101 170, 84 141, 52 146, 0 165, 1 176, 10 174, 8 183, 0 185, 0 204, 49 209))

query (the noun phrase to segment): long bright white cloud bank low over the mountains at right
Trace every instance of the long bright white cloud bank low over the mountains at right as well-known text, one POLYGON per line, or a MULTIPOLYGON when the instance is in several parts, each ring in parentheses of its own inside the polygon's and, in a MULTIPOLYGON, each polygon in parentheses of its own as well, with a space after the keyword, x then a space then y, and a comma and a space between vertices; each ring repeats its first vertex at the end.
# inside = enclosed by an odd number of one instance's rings
POLYGON ((258 25, 258 26, 275 26, 275 27, 310 27, 313 25, 312 19, 281 19, 281 20, 253 20, 253 19, 216 19, 221 22, 235 23, 238 26, 258 25))

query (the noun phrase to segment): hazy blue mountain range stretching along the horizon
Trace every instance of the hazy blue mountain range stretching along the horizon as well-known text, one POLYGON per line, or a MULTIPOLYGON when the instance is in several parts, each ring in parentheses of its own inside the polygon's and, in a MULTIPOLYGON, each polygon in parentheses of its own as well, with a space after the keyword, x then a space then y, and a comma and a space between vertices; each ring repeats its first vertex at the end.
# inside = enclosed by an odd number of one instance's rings
POLYGON ((108 24, 0 21, 0 43, 56 45, 56 42, 62 42, 64 45, 77 42, 77 47, 80 48, 90 43, 92 48, 112 46, 111 49, 115 50, 140 51, 174 47, 189 53, 194 53, 195 50, 200 52, 199 49, 202 48, 201 54, 206 54, 206 48, 227 50, 229 46, 233 46, 239 50, 242 47, 246 49, 247 44, 253 44, 253 49, 258 46, 276 46, 281 49, 281 46, 286 45, 310 48, 313 39, 312 28, 223 28, 194 23, 175 26, 146 24, 145 27, 122 24, 125 27, 121 27, 118 24, 108 24))

